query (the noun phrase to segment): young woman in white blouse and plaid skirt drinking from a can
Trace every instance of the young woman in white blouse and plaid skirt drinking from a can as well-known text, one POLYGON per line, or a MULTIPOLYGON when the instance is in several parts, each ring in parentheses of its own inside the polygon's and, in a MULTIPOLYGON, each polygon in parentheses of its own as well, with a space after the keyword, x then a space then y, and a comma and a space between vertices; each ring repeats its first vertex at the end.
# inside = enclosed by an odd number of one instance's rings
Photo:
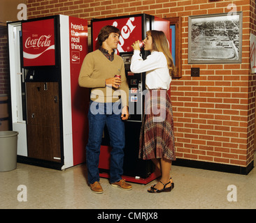
POLYGON ((139 41, 131 47, 131 72, 145 72, 145 114, 141 126, 139 157, 152 160, 161 171, 161 179, 148 192, 171 192, 174 187, 170 177, 171 162, 176 160, 171 99, 167 93, 171 76, 175 75, 169 43, 162 31, 151 30, 143 40, 144 49, 150 51, 147 59, 140 56, 139 41), (157 113, 158 111, 158 113, 157 113))

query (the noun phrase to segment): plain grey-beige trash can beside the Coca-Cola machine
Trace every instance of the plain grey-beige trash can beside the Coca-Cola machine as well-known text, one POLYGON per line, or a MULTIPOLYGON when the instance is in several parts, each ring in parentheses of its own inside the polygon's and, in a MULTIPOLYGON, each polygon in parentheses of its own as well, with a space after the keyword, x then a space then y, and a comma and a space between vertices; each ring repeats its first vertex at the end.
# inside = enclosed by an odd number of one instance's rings
POLYGON ((15 131, 0 131, 0 172, 17 168, 17 134, 15 131))

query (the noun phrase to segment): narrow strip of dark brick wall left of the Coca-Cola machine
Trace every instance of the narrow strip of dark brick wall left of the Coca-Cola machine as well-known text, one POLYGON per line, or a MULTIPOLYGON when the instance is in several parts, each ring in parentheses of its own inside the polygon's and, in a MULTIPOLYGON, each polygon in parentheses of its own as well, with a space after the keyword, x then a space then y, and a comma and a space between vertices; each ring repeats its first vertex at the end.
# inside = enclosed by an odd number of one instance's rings
POLYGON ((0 94, 10 93, 7 28, 0 29, 0 94))

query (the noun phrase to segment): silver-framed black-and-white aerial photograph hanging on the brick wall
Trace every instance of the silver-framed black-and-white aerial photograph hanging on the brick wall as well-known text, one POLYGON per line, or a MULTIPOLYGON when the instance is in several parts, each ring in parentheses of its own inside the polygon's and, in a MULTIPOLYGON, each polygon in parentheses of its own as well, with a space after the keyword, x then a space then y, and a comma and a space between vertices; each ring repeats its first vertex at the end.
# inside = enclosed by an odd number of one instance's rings
POLYGON ((243 13, 188 17, 188 63, 241 63, 243 13))

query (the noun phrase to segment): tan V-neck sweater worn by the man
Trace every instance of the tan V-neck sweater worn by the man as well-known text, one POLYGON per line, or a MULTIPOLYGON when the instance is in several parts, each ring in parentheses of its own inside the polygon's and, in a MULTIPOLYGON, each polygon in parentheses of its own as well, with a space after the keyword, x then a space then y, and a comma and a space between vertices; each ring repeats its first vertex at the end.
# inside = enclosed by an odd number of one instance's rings
POLYGON ((109 61, 99 49, 85 56, 80 75, 79 86, 91 88, 91 100, 97 102, 116 102, 121 98, 122 107, 128 106, 129 87, 125 77, 125 66, 121 56, 114 55, 109 61), (121 86, 118 89, 105 85, 108 78, 121 75, 121 86))

